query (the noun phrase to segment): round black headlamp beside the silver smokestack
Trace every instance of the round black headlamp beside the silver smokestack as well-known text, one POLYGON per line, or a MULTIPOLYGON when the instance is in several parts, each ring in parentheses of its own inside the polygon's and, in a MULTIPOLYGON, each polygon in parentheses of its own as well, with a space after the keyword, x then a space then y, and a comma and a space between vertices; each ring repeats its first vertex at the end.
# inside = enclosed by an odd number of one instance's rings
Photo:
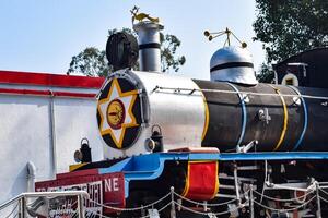
POLYGON ((133 35, 119 32, 109 36, 106 44, 106 57, 114 70, 132 68, 139 55, 137 39, 133 35))

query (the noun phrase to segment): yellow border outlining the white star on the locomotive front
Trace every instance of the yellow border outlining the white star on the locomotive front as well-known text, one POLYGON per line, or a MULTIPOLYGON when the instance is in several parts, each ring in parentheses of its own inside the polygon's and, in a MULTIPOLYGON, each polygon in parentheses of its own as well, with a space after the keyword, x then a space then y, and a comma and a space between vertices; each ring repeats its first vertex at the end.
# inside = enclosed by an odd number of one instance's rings
POLYGON ((110 89, 108 92, 107 97, 99 100, 98 104, 97 104, 97 110, 98 110, 98 113, 101 114, 101 125, 99 125, 101 134, 102 135, 110 134, 110 137, 112 137, 113 142, 115 143, 116 147, 119 148, 119 149, 121 149, 121 146, 122 146, 122 141, 124 141, 124 137, 125 137, 126 129, 127 128, 134 128, 134 126, 139 125, 137 123, 136 117, 132 112, 132 108, 133 108, 134 101, 137 99, 137 95, 138 95, 138 90, 130 90, 130 92, 122 93, 117 78, 114 78, 113 82, 112 82, 110 89), (103 123, 104 123, 104 116, 103 116, 102 110, 101 110, 101 105, 109 101, 109 98, 112 96, 114 86, 116 86, 119 97, 132 96, 132 99, 131 99, 131 102, 130 102, 129 109, 128 109, 128 113, 130 114, 130 118, 131 118, 132 121, 130 123, 124 123, 121 125, 121 134, 120 134, 120 137, 119 137, 118 142, 117 142, 116 137, 114 136, 114 133, 113 133, 112 129, 107 129, 105 131, 102 131, 103 123))

